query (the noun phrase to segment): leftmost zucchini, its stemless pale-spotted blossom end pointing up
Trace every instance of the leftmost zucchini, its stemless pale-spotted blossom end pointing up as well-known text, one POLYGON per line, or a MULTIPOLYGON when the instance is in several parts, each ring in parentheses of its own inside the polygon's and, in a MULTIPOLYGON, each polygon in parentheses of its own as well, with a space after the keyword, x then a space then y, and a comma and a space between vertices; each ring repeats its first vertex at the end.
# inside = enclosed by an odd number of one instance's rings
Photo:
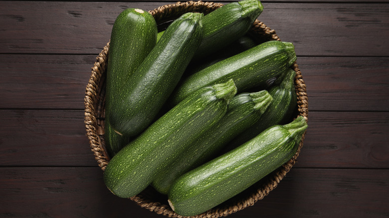
POLYGON ((125 107, 125 96, 130 92, 127 84, 156 41, 157 23, 147 11, 128 8, 116 18, 108 51, 106 117, 115 120, 125 107))

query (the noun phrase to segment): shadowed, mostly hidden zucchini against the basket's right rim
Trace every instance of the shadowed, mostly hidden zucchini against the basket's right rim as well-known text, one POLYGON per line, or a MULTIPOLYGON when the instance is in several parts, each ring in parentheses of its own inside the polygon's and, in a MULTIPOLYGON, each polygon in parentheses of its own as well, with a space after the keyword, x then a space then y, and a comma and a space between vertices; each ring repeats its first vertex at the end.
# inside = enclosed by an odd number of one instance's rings
MULTIPOLYGON (((263 116, 250 128, 234 138, 229 146, 236 147, 255 137, 263 130, 273 125, 283 125, 292 119, 293 112, 297 105, 296 90, 294 88, 294 77, 296 72, 292 69, 278 78, 281 83, 269 88, 269 94, 273 97, 269 108, 263 116)), ((278 81, 277 81, 278 82, 278 81)), ((277 83, 276 82, 276 83, 277 83)))

